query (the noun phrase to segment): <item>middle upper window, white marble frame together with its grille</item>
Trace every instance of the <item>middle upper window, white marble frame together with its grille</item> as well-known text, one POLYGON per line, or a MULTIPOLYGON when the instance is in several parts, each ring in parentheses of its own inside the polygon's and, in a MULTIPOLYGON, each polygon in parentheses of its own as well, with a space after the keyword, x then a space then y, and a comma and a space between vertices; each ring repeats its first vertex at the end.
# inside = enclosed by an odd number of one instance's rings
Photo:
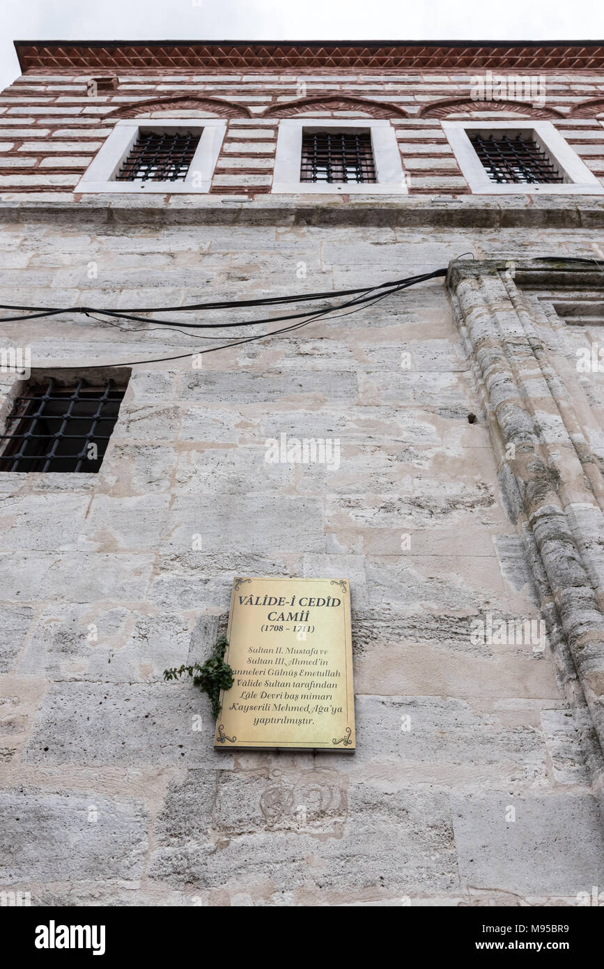
POLYGON ((392 125, 374 118, 281 121, 272 191, 407 194, 392 125))

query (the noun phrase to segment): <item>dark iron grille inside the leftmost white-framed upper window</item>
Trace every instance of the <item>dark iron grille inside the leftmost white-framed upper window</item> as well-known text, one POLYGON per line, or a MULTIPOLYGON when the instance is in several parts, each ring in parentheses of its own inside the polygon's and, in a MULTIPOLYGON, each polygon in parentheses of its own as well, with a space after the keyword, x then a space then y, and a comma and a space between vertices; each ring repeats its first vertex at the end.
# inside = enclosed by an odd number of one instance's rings
POLYGON ((116 181, 184 181, 201 131, 139 131, 116 181))

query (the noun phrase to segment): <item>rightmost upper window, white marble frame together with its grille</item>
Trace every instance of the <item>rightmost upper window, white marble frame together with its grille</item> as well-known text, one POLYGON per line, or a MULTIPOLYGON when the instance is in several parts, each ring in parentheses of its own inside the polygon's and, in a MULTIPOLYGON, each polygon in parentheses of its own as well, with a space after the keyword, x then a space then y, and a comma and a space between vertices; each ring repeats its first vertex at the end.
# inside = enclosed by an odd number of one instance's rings
POLYGON ((472 192, 604 193, 551 121, 443 121, 442 127, 472 192))

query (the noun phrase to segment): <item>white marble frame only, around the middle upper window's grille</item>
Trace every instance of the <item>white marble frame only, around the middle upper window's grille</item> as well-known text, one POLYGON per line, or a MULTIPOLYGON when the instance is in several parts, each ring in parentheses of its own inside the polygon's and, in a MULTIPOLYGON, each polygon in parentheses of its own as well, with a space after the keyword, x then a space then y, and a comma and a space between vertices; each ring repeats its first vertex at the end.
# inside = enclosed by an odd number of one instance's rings
POLYGON ((286 118, 279 124, 273 193, 298 195, 408 195, 401 152, 394 128, 385 118, 286 118), (356 132, 359 128, 371 134, 377 182, 303 182, 302 135, 304 131, 329 128, 335 132, 356 132))

